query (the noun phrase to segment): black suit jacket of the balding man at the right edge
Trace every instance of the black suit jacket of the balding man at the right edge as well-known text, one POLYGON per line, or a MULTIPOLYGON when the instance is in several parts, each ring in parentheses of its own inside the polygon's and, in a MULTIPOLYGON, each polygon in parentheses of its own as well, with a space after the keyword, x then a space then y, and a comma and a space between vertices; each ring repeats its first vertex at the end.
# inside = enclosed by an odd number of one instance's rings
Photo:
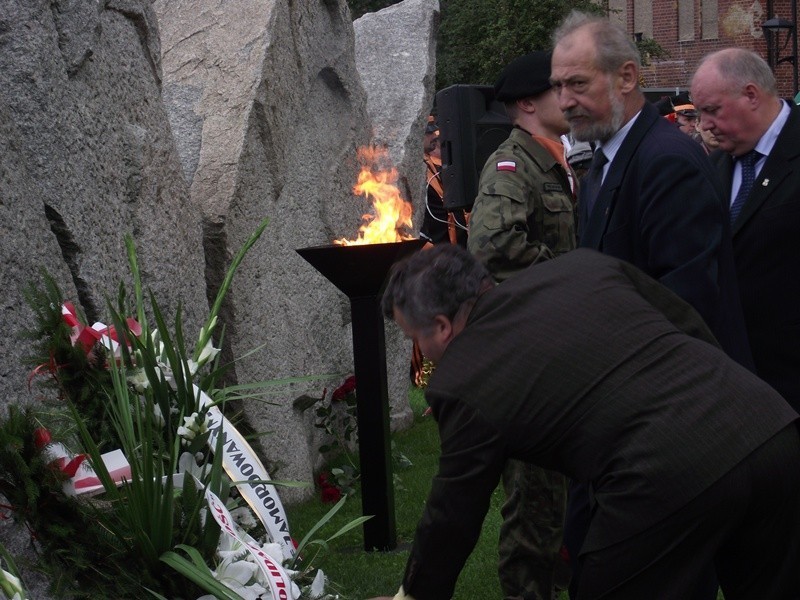
MULTIPOLYGON (((712 154, 730 200, 733 159, 712 154)), ((733 224, 734 262, 756 372, 800 408, 800 108, 733 224)))

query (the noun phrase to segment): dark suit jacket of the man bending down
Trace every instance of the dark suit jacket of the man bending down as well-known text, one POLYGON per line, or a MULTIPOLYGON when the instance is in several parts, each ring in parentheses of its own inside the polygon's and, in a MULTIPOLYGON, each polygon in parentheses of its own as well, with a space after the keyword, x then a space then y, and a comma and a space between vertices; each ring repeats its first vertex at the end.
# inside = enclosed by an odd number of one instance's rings
POLYGON ((442 451, 403 582, 418 600, 452 596, 509 458, 592 484, 591 550, 680 511, 797 418, 688 304, 585 249, 481 296, 426 399, 442 451))

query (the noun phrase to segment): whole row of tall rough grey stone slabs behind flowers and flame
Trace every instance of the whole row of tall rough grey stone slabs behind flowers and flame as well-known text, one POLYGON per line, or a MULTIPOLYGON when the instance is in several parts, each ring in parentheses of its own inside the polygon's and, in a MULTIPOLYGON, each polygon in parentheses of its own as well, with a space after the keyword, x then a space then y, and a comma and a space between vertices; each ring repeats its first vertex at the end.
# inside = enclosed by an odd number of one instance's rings
MULTIPOLYGON (((273 473, 310 480, 320 440, 313 416, 292 401, 352 372, 351 317, 349 301, 295 249, 355 237, 369 208, 352 193, 356 149, 370 142, 389 148, 401 190, 418 200, 437 10, 406 0, 365 15, 357 54, 345 0, 7 0, 0 409, 35 400, 17 334, 30 323, 21 290, 37 269, 90 321, 102 318, 117 283, 130 281, 130 233, 145 285, 166 314, 183 303, 193 339, 206 288, 214 293, 268 217, 225 307, 225 350, 239 357, 242 383, 320 376, 244 404, 252 428, 269 432, 260 446, 273 473), (391 78, 372 68, 379 63, 391 78)), ((387 357, 392 426, 404 427, 410 345, 393 325, 387 357)), ((27 544, 10 531, 0 528, 3 543, 27 544)))

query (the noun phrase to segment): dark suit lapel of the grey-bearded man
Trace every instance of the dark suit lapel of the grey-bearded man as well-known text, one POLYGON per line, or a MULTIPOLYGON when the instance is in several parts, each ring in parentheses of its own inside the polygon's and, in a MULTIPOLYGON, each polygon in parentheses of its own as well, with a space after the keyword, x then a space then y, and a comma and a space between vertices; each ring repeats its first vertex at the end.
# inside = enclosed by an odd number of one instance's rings
POLYGON ((649 102, 645 102, 641 114, 628 131, 628 135, 625 136, 614 160, 611 161, 592 214, 588 217, 587 225, 581 234, 581 246, 601 248, 603 236, 611 216, 614 214, 619 188, 625 179, 631 158, 658 118, 658 111, 649 102))

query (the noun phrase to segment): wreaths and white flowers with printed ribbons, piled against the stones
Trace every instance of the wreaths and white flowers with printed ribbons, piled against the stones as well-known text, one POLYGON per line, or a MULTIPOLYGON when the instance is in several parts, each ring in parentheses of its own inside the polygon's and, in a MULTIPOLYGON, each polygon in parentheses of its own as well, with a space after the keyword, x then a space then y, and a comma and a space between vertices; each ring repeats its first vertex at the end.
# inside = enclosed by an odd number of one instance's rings
MULTIPOLYGON (((308 551, 365 518, 313 538, 341 498, 296 544, 274 489, 292 484, 269 477, 224 414, 231 399, 310 378, 218 386, 217 315, 266 225, 233 259, 191 353, 180 308, 170 326, 151 295, 149 326, 130 238, 132 293, 120 285, 111 325, 85 324, 46 273, 43 289, 26 290, 36 323, 28 384, 42 393, 0 420, 0 517, 27 526, 56 597, 335 597, 308 551)), ((0 558, 0 597, 26 598, 2 546, 0 558)))

